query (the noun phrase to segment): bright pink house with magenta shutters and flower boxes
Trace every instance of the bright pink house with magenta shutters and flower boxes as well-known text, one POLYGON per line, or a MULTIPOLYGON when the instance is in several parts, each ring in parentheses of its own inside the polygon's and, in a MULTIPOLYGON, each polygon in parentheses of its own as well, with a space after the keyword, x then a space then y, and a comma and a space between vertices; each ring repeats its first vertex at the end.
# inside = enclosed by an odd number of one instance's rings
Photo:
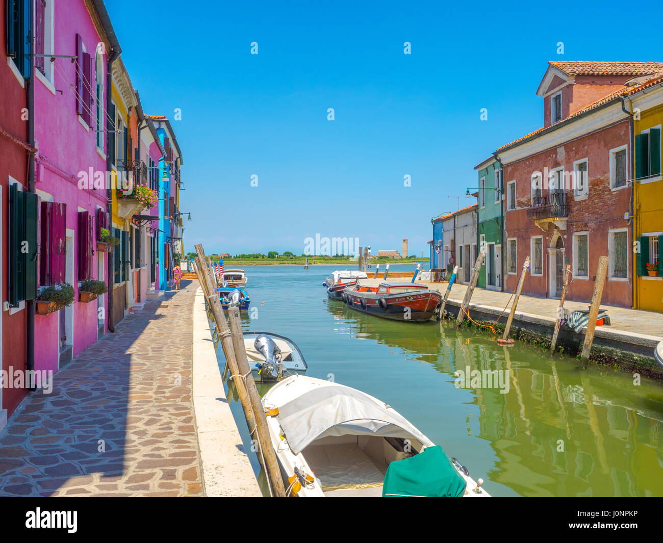
POLYGON ((108 224, 107 62, 119 44, 103 3, 87 5, 36 2, 36 52, 71 56, 36 60, 38 284, 68 282, 76 290, 71 306, 35 316, 34 368, 42 370, 56 371, 107 332, 107 295, 85 303, 78 291, 83 280, 107 281, 109 253, 97 251, 97 239, 108 224))

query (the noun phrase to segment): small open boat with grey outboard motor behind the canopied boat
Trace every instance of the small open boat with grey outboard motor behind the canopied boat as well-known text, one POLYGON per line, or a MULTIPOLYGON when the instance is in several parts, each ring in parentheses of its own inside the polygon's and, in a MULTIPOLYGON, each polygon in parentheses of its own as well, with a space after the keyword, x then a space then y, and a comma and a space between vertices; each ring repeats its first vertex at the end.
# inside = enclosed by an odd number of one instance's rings
POLYGON ((251 375, 255 381, 278 381, 306 373, 308 365, 299 347, 283 335, 271 332, 244 333, 251 375))

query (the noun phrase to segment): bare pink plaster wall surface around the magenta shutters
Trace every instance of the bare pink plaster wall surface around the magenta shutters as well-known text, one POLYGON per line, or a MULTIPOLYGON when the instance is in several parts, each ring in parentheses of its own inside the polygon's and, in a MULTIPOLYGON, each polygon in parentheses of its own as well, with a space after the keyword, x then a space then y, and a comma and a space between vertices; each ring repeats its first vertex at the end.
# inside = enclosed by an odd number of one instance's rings
MULTIPOLYGON (((76 54, 76 34, 78 33, 82 36, 86 52, 94 58, 100 38, 84 1, 56 2, 54 10, 55 50, 58 54, 76 54)), ((101 74, 104 87, 106 60, 104 55, 104 73, 101 74)), ((54 94, 40 80, 35 80, 34 130, 39 149, 36 188, 52 194, 55 202, 67 204, 67 229, 74 230, 74 282, 72 284, 76 290, 76 298, 72 305, 74 333, 72 338, 68 338, 68 342, 72 342, 72 354, 76 356, 97 341, 97 303, 78 302, 78 211, 79 208, 82 208, 91 213, 94 217, 96 233, 97 207, 106 207, 105 190, 78 188, 79 172, 89 172, 90 168, 93 168, 95 172, 105 172, 106 162, 105 158, 97 153, 94 127, 86 129, 79 121, 76 111, 76 64, 63 58, 58 58, 55 63, 54 84, 57 90, 62 90, 62 93, 54 94)), ((105 94, 103 103, 105 106, 105 94)), ((95 251, 92 267, 93 278, 97 278, 97 258, 95 251)), ((107 258, 107 254, 103 255, 104 269, 107 269, 107 258)), ((107 312, 108 296, 105 298, 107 312)), ((57 369, 58 336, 58 314, 36 317, 36 369, 57 369)))

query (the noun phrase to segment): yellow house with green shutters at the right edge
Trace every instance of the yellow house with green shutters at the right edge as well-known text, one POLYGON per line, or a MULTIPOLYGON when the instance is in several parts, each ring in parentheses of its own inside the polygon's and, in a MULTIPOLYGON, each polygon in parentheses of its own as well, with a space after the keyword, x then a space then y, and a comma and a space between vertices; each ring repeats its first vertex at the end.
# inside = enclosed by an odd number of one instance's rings
POLYGON ((633 89, 633 306, 663 312, 663 78, 633 89))

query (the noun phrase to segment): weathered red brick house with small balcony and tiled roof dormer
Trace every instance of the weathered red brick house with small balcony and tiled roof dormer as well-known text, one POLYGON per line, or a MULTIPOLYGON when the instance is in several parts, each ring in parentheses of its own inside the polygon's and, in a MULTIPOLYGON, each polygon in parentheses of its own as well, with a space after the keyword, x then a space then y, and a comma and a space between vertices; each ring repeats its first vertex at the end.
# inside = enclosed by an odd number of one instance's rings
POLYGON ((623 97, 663 73, 654 62, 549 62, 537 94, 544 127, 499 148, 504 168, 505 290, 531 258, 525 294, 589 300, 602 255, 603 303, 633 302, 633 121, 623 97), (623 105, 625 107, 623 107, 623 105))

